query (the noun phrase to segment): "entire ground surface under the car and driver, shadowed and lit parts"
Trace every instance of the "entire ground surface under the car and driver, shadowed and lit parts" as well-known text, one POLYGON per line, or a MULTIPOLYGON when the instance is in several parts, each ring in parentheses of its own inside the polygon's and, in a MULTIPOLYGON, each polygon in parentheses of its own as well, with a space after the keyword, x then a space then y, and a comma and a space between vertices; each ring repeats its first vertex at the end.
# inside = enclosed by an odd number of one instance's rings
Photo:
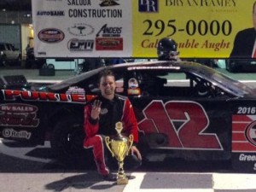
MULTIPOLYGON (((127 185, 104 181, 95 166, 64 167, 50 158, 49 143, 36 148, 0 140, 0 191, 254 192, 256 175, 230 172, 228 164, 154 161, 130 176, 127 185), (36 152, 37 151, 37 152, 36 152)), ((157 155, 155 158, 159 158, 157 155)))

